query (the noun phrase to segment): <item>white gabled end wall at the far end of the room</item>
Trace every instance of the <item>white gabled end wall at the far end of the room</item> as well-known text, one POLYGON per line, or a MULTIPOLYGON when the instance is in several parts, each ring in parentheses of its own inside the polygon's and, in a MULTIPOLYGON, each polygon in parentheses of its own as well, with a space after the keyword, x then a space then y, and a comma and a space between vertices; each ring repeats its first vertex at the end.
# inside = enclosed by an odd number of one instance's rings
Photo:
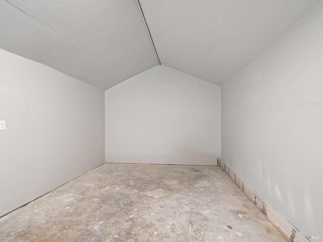
POLYGON ((220 86, 166 66, 105 91, 105 161, 215 165, 220 86))

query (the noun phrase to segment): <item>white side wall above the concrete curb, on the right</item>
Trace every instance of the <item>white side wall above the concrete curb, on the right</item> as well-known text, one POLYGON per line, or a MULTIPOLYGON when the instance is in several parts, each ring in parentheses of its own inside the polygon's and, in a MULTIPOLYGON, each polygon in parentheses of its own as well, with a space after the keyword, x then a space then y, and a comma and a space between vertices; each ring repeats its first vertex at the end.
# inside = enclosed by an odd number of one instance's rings
POLYGON ((322 23, 320 2, 222 86, 223 160, 304 235, 323 233, 322 23))

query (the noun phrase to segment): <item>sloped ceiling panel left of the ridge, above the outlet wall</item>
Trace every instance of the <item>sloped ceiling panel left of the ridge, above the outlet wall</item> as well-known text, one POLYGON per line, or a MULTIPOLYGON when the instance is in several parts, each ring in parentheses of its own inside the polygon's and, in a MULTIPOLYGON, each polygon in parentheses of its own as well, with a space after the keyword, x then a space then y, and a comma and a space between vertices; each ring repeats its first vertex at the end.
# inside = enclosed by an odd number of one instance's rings
POLYGON ((0 48, 103 90, 158 65, 135 0, 0 0, 0 48))

